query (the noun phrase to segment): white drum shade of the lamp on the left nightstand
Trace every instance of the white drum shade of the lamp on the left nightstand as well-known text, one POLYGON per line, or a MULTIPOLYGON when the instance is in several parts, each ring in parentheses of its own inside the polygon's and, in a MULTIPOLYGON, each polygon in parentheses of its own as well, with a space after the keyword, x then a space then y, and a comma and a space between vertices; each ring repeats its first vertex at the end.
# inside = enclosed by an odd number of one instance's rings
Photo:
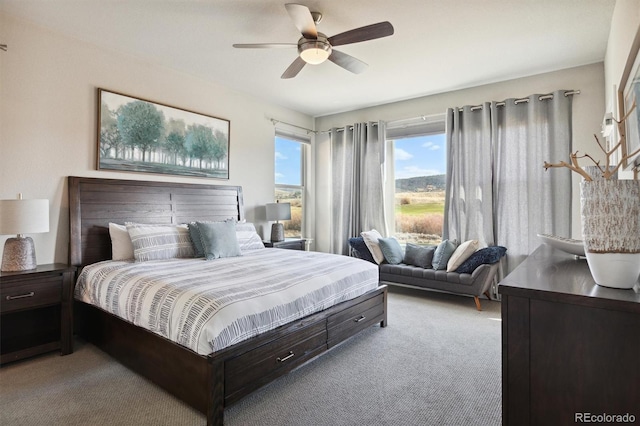
POLYGON ((49 232, 49 200, 0 200, 0 235, 49 232))

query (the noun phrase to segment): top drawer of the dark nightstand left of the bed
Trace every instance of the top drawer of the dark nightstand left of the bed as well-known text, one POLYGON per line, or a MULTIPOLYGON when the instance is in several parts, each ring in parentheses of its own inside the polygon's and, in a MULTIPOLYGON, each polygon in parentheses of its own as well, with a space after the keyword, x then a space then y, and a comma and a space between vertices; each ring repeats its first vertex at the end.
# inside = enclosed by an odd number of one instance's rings
POLYGON ((55 305, 62 301, 61 277, 23 280, 14 285, 0 287, 0 311, 2 313, 37 306, 55 305))

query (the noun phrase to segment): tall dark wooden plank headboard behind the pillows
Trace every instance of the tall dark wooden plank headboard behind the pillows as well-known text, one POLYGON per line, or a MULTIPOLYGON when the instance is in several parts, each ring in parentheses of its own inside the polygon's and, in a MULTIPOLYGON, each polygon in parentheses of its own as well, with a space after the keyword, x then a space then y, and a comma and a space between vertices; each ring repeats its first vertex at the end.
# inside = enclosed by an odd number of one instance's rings
POLYGON ((244 219, 242 187, 70 176, 69 261, 111 259, 109 222, 179 224, 244 219))

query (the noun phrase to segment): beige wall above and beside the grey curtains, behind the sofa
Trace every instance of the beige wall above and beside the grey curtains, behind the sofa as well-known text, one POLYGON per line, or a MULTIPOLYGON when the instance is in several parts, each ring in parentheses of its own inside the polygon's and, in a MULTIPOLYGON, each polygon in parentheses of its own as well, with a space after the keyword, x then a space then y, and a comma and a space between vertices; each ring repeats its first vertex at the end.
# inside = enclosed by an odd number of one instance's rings
MULTIPOLYGON (((580 90, 580 94, 576 95, 573 100, 574 150, 588 150, 597 153, 593 134, 600 131, 600 123, 604 115, 604 68, 602 63, 320 117, 316 119, 316 129, 326 130, 362 121, 393 121, 421 115, 440 114, 448 107, 477 105, 484 101, 501 101, 507 98, 525 97, 533 93, 549 93, 559 89, 580 90)), ((328 191, 331 172, 328 159, 328 136, 320 134, 316 144, 317 229, 329 229, 331 226, 330 193, 328 191)), ((554 159, 549 161, 551 160, 554 159)), ((579 179, 577 176, 573 179, 571 203, 573 212, 572 236, 580 238, 579 179)), ((329 240, 326 234, 320 232, 317 234, 316 248, 318 250, 329 249, 329 240)))

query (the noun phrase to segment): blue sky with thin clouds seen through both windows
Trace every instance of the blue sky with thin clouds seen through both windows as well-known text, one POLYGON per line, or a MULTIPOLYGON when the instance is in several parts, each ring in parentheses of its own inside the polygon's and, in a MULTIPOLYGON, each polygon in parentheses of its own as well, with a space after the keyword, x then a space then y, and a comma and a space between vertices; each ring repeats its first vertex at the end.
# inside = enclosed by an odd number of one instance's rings
MULTIPOLYGON (((444 134, 398 139, 394 144, 396 179, 445 174, 444 134)), ((275 155, 276 184, 300 185, 300 143, 276 137, 275 155)))

